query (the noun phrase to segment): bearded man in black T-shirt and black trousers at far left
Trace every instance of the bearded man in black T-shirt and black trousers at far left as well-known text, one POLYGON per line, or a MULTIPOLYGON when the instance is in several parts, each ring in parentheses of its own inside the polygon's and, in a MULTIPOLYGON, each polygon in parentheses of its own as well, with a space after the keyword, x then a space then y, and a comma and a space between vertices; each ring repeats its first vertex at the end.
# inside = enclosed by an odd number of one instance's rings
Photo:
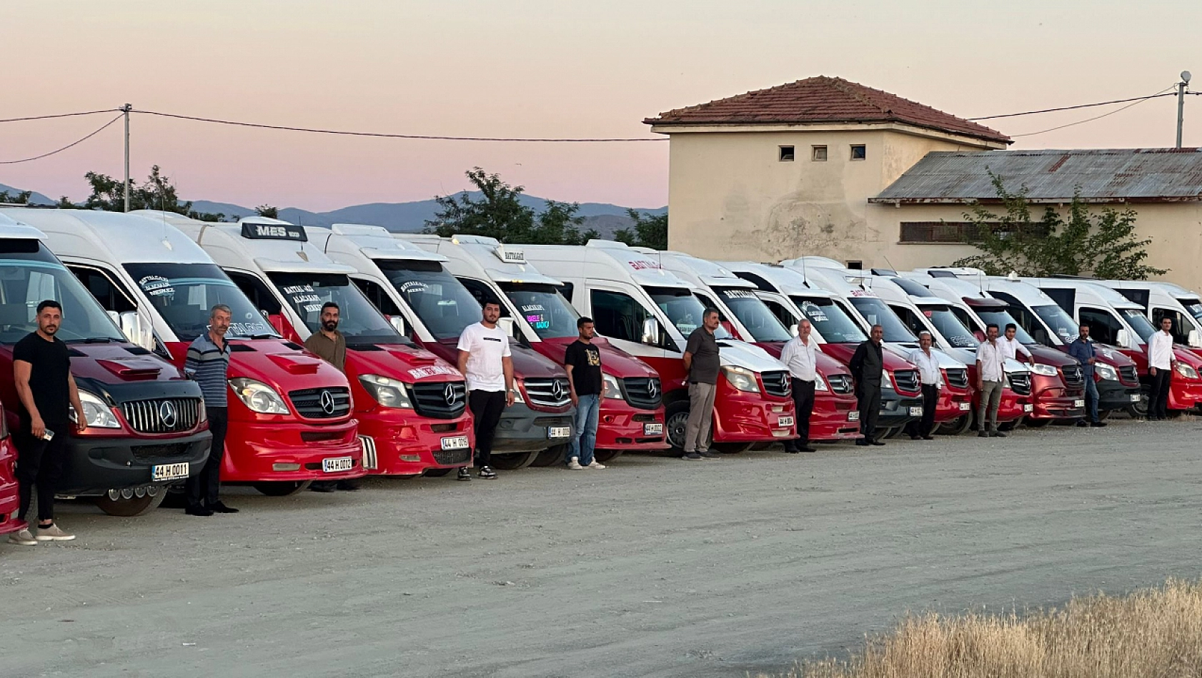
POLYGON ((78 431, 88 427, 79 403, 79 390, 71 376, 67 344, 54 336, 63 323, 63 306, 46 300, 37 305, 37 330, 25 335, 12 349, 13 376, 20 398, 20 426, 17 445, 17 482, 24 521, 37 487, 37 534, 29 528, 13 533, 8 541, 32 546, 38 541, 67 541, 75 535, 54 524, 54 491, 67 457, 71 434, 70 404, 75 408, 78 431))

